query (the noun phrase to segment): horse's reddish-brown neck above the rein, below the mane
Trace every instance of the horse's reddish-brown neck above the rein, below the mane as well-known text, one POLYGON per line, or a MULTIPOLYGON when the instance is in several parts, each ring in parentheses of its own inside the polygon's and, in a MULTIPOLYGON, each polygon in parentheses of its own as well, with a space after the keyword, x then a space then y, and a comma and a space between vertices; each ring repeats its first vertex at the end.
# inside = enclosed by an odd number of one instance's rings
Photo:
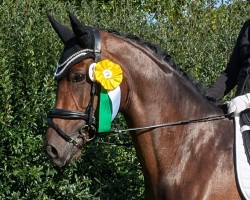
POLYGON ((206 110, 214 110, 190 82, 152 51, 118 36, 109 35, 105 41, 104 57, 123 68, 120 110, 131 126, 186 120, 194 113, 202 117, 208 114, 206 110))

